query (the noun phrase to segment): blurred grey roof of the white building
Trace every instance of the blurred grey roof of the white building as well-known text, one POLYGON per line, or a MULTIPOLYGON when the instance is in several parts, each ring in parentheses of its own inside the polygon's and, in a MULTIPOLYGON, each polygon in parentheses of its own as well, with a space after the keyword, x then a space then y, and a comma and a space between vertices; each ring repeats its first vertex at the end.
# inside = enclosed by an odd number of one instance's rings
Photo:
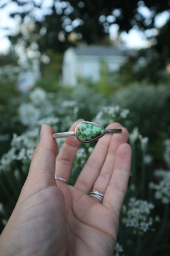
POLYGON ((125 56, 128 50, 113 46, 79 46, 73 47, 78 56, 125 56))

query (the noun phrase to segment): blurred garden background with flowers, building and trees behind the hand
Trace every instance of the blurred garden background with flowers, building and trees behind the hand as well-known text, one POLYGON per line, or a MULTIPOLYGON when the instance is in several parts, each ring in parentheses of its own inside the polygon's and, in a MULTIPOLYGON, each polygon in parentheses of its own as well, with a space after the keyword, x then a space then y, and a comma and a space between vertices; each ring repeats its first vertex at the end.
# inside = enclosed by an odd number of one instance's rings
MULTIPOLYGON (((114 255, 170 255, 169 46, 169 0, 0 1, 0 232, 42 123, 116 121, 133 159, 114 255)), ((71 185, 94 146, 79 148, 71 185)))

